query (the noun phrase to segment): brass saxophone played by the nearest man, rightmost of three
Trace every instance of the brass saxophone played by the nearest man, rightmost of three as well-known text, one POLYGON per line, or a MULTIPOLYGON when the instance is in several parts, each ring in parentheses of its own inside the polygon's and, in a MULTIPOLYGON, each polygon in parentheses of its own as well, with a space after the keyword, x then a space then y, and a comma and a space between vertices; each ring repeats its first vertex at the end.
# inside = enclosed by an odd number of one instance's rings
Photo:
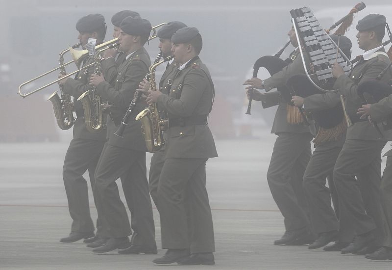
MULTIPOLYGON (((168 56, 157 63, 154 63, 149 68, 149 91, 156 91, 155 69, 160 64, 169 61, 172 56, 168 56)), ((159 117, 158 108, 155 103, 148 104, 148 108, 142 110, 137 116, 136 120, 142 122, 142 133, 146 141, 147 150, 149 152, 156 152, 164 145, 163 139, 163 120, 159 117)))

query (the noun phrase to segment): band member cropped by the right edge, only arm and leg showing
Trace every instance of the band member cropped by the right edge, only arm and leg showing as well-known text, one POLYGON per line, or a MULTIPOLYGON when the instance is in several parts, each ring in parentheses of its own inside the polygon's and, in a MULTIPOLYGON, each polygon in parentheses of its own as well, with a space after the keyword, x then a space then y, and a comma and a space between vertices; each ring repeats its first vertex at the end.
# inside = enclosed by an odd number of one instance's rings
MULTIPOLYGON (((390 73, 392 71, 390 70, 390 73)), ((382 122, 391 117, 392 113, 392 96, 388 96, 378 103, 364 105, 358 109, 359 114, 363 114, 365 119, 370 116, 370 121, 382 122)), ((392 150, 385 155, 387 165, 381 180, 381 206, 385 228, 385 238, 382 247, 365 257, 371 260, 388 260, 392 259, 392 150)))

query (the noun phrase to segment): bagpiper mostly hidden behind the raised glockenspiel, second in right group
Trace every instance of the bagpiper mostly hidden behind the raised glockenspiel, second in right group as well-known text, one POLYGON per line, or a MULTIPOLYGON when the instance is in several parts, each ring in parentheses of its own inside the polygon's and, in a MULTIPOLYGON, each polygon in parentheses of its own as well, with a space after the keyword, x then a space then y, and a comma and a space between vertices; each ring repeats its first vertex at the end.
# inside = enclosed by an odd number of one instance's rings
MULTIPOLYGON (((339 44, 343 54, 349 59, 352 47, 351 41, 345 36, 341 36, 339 42, 337 35, 330 35, 330 37, 336 44, 339 44)), ((307 78, 304 78, 304 80, 307 80, 307 78)), ((310 244, 308 248, 319 248, 329 242, 338 240, 335 244, 325 247, 324 250, 341 250, 352 241, 354 233, 350 220, 346 216, 339 216, 339 213, 336 213, 338 211, 334 211, 331 207, 332 197, 335 209, 339 209, 338 198, 337 196, 334 197, 335 194, 333 193, 336 190, 332 172, 343 147, 347 127, 343 111, 339 107, 341 104, 340 96, 335 92, 314 94, 305 98, 293 96, 292 102, 295 106, 302 107, 310 118, 317 112, 326 109, 334 110, 333 112, 328 111, 328 115, 323 116, 323 119, 319 119, 317 116, 314 117, 318 126, 318 133, 314 140, 315 150, 304 173, 303 190, 309 206, 312 229, 318 234, 316 241, 310 244), (333 117, 336 119, 333 119, 333 117), (320 127, 318 122, 320 120, 325 122, 328 127, 330 125, 334 125, 334 127, 328 129, 320 127), (329 188, 325 186, 327 177, 329 177, 329 188)))

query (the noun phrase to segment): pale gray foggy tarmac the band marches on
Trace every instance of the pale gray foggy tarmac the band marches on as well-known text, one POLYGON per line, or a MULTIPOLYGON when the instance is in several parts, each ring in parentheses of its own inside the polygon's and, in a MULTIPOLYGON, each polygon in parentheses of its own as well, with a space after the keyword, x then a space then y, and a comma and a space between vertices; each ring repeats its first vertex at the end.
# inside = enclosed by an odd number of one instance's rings
MULTIPOLYGON (((0 144, 0 269, 392 269, 392 260, 273 245, 284 233, 266 179, 274 139, 265 132, 258 139, 216 141, 220 157, 207 162, 216 265, 188 267, 151 262, 165 252, 156 209, 158 255, 95 254, 81 241, 60 243, 71 225, 61 174, 68 143, 0 144)), ((91 193, 90 202, 94 220, 91 193)))

